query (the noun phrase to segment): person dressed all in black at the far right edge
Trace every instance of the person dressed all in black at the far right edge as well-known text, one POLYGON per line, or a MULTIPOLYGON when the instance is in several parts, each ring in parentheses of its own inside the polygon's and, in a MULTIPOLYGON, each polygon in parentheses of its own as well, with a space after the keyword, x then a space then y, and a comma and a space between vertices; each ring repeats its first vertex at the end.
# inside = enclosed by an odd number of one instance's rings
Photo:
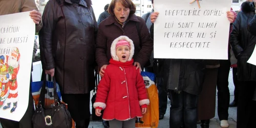
POLYGON ((256 101, 252 100, 256 87, 256 66, 247 63, 256 44, 256 36, 248 31, 248 25, 255 15, 255 6, 253 2, 244 2, 241 8, 233 23, 230 44, 238 59, 237 77, 240 81, 237 128, 247 128, 256 127, 256 101))

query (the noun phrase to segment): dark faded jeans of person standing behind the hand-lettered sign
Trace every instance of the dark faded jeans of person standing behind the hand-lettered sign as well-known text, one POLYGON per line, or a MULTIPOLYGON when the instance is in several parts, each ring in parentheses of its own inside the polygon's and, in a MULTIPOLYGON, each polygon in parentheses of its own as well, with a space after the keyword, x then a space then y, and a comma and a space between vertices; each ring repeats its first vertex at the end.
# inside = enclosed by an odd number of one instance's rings
POLYGON ((170 128, 197 128, 198 96, 186 92, 169 91, 170 95, 170 128))

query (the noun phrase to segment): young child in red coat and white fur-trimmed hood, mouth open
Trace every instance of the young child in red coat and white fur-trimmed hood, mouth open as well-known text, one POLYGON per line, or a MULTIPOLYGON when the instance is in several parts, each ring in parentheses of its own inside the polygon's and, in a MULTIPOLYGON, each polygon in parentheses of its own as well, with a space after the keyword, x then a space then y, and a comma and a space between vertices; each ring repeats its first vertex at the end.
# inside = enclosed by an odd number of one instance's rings
POLYGON ((116 38, 111 45, 110 65, 99 82, 95 114, 109 120, 111 128, 135 127, 136 117, 146 113, 147 99, 140 70, 133 66, 134 44, 127 36, 116 38))

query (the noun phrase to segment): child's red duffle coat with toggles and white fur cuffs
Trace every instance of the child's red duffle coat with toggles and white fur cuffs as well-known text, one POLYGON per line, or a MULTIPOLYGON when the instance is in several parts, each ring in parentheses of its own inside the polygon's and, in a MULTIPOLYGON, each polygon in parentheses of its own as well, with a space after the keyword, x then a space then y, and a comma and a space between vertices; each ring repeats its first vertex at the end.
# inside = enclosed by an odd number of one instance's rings
POLYGON ((110 60, 99 82, 94 108, 104 109, 103 120, 129 120, 142 117, 140 106, 149 104, 144 80, 133 59, 122 63, 110 60))

